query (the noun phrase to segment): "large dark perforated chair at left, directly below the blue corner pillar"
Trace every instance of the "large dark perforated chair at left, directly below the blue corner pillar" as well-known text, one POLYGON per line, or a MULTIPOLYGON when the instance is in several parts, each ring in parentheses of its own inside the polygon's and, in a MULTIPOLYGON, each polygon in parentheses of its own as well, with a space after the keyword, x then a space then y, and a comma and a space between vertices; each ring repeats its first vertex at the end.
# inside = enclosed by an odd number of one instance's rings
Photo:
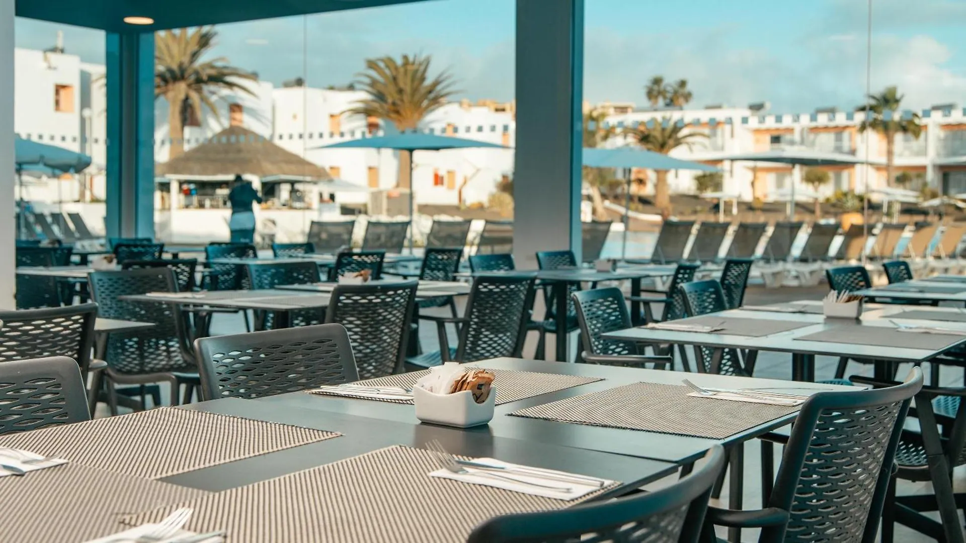
POLYGON ((177 292, 174 272, 166 267, 146 268, 92 272, 88 277, 100 317, 155 325, 150 329, 115 332, 108 337, 104 353, 107 369, 103 375, 107 378, 107 401, 111 413, 117 414, 116 384, 168 383, 172 390, 171 402, 177 405, 180 386, 193 389, 201 383, 184 315, 163 301, 119 298, 150 292, 177 292))

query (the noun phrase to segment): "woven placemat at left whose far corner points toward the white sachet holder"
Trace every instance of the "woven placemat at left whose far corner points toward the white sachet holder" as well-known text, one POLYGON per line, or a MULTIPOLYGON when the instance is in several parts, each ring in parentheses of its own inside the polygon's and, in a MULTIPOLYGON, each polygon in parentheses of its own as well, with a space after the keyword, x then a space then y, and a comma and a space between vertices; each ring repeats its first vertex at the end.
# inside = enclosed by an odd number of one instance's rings
POLYGON ((159 479, 339 435, 238 416, 158 408, 4 436, 0 446, 159 479))

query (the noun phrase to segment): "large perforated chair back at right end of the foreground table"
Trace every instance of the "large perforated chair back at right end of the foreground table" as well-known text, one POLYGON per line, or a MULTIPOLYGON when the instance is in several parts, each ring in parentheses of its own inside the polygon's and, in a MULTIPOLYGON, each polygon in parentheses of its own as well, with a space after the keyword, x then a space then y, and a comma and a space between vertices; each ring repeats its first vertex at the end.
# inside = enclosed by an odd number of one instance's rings
POLYGON ((810 396, 768 500, 791 513, 785 541, 877 540, 902 424, 922 387, 917 367, 899 386, 810 396))

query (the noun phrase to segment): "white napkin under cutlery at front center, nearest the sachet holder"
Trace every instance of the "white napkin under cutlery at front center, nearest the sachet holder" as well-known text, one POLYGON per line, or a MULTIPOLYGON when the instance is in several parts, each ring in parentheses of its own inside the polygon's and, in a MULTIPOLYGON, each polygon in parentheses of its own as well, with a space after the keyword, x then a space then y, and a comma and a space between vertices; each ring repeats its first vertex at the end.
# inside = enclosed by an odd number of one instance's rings
MULTIPOLYGON (((502 462, 495 458, 474 458, 473 462, 477 464, 486 464, 489 466, 498 466, 503 468, 513 468, 519 466, 517 464, 510 464, 508 462, 502 462)), ((527 468, 526 466, 520 466, 521 468, 527 468)), ((544 479, 540 476, 532 476, 529 474, 521 472, 483 472, 479 470, 474 470, 473 468, 465 467, 469 472, 466 474, 459 474, 454 472, 449 472, 446 470, 437 470, 429 474, 431 477, 440 477, 442 479, 453 479, 454 481, 461 481, 469 484, 477 484, 483 486, 492 486, 495 488, 501 488, 503 490, 509 490, 512 492, 519 492, 521 494, 529 494, 531 496, 542 496, 544 498, 552 498, 554 500, 577 500, 583 496, 586 496, 592 492, 601 490, 613 484, 615 481, 608 479, 597 479, 596 477, 587 477, 586 475, 579 475, 580 477, 586 477, 594 480, 599 480, 604 483, 604 486, 597 486, 592 484, 581 484, 581 483, 571 483, 563 482, 552 479, 544 479), (497 475, 512 477, 515 479, 520 479, 521 481, 530 481, 541 485, 547 486, 557 486, 560 488, 569 488, 566 492, 556 492, 550 489, 543 489, 535 486, 527 485, 526 483, 512 483, 506 479, 499 477, 491 477, 488 474, 478 474, 478 473, 496 473, 497 475)), ((552 470, 541 470, 542 472, 547 472, 562 476, 574 476, 573 473, 567 472, 554 472, 552 470)))

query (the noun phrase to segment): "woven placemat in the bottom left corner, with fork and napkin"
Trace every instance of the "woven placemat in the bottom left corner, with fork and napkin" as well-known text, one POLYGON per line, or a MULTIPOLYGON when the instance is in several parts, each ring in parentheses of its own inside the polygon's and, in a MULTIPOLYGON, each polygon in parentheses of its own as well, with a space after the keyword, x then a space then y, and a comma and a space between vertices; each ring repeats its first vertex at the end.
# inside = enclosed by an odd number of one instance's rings
POLYGON ((128 529, 128 515, 209 494, 77 464, 0 477, 0 541, 97 539, 128 529))

